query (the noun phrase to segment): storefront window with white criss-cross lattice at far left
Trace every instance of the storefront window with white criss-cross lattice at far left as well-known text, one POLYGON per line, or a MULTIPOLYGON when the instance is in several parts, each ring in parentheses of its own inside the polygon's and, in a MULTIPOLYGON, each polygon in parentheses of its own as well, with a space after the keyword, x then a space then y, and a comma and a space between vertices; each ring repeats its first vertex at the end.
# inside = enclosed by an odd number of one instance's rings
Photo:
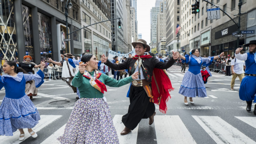
POLYGON ((0 56, 1 60, 13 61, 18 56, 14 0, 1 0, 0 2, 0 56))

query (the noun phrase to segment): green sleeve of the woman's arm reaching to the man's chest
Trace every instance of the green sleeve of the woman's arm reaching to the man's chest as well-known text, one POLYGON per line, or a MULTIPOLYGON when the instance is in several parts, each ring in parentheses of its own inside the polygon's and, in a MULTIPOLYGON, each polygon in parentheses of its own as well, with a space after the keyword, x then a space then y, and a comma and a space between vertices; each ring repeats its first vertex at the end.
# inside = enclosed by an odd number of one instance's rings
POLYGON ((121 87, 133 81, 132 76, 120 79, 118 81, 107 75, 101 75, 101 76, 104 76, 105 85, 108 85, 110 87, 121 87))

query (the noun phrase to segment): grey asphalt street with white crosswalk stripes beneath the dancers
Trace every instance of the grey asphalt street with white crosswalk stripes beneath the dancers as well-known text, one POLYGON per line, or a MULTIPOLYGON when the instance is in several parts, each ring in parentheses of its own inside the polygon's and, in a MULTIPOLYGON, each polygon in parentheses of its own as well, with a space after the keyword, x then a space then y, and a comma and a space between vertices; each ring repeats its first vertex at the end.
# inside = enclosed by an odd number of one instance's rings
MULTIPOLYGON (((161 113, 156 105, 154 123, 148 125, 149 119, 142 119, 138 127, 126 136, 120 136, 120 132, 124 128, 121 117, 126 114, 129 106, 129 99, 126 97, 129 84, 119 88, 107 86, 108 92, 104 95, 120 144, 256 143, 256 116, 252 111, 247 112, 246 102, 239 99, 238 78, 235 82, 235 90, 231 91, 232 77, 213 72, 213 76, 205 84, 208 97, 194 98, 194 104, 185 105, 184 97, 178 93, 184 73, 179 66, 172 66, 167 73, 175 88, 170 92, 172 98, 167 103, 167 113, 161 113)), ((56 138, 63 134, 65 124, 77 100, 76 94, 72 92, 72 89, 61 80, 45 81, 38 88, 38 96, 32 100, 41 115, 39 124, 33 128, 38 137, 32 138, 26 134, 26 139, 19 141, 19 132, 15 132, 12 137, 0 136, 0 144, 58 144, 56 138), (66 104, 54 102, 59 100, 69 102, 66 104)), ((0 100, 4 96, 5 90, 2 89, 0 100)))

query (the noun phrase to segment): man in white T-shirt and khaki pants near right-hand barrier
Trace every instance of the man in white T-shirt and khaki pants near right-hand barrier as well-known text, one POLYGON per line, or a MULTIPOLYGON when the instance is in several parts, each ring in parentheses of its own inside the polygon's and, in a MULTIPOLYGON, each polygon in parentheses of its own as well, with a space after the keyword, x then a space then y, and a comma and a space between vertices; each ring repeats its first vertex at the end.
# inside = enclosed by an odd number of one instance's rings
POLYGON ((232 72, 231 90, 234 90, 235 80, 237 76, 239 77, 240 82, 244 78, 244 69, 245 69, 244 61, 241 61, 237 58, 234 58, 231 61, 231 72, 232 72))

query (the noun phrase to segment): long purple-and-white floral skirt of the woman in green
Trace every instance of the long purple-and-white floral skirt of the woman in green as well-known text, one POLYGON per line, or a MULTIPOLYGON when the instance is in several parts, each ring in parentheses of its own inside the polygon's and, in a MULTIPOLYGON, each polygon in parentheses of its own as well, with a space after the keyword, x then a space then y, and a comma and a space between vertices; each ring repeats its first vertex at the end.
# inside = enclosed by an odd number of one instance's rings
POLYGON ((80 98, 57 140, 61 144, 119 144, 108 104, 102 98, 80 98))

